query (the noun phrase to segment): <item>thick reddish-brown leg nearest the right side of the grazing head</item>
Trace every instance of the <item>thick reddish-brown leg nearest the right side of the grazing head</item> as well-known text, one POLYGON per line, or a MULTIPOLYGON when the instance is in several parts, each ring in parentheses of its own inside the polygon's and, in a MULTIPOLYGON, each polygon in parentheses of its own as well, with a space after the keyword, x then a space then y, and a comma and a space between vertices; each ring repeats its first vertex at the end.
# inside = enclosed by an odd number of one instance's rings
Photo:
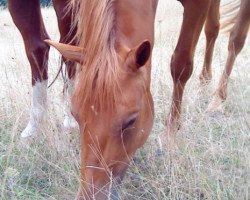
POLYGON ((164 144, 171 145, 175 143, 175 132, 179 127, 183 92, 186 82, 193 71, 195 47, 205 22, 209 5, 210 1, 204 0, 183 1, 184 18, 181 33, 170 65, 174 88, 172 105, 166 121, 167 138, 161 137, 161 140, 164 141, 165 139, 164 144))

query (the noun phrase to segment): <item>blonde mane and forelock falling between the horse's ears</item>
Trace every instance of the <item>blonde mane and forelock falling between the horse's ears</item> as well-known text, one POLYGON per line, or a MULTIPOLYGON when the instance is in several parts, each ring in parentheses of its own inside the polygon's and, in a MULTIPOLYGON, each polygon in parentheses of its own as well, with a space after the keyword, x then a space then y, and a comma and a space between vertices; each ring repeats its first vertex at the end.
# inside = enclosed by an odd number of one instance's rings
POLYGON ((115 0, 73 0, 76 10, 76 39, 86 50, 78 73, 75 97, 84 108, 114 108, 120 92, 118 55, 115 50, 115 0))

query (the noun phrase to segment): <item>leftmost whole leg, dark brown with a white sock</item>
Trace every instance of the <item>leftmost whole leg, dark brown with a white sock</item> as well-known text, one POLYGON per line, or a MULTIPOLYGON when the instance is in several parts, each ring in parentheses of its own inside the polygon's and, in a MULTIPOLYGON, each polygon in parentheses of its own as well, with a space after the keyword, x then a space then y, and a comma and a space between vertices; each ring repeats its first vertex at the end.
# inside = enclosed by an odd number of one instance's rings
POLYGON ((49 46, 45 44, 44 39, 48 39, 49 36, 42 20, 39 0, 9 0, 8 7, 23 37, 32 73, 33 93, 30 119, 21 133, 21 137, 26 138, 40 132, 39 124, 47 109, 49 46))

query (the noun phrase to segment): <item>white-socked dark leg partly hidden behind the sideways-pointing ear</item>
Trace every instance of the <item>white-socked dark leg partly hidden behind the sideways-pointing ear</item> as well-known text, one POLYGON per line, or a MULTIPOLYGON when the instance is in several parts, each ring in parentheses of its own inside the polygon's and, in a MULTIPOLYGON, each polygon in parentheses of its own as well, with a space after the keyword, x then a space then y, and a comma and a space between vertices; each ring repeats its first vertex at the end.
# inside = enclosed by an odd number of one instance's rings
MULTIPOLYGON (((72 30, 72 11, 66 10, 68 0, 53 0, 60 31, 60 42, 76 45, 74 36, 76 28, 72 30)), ((66 83, 64 84, 64 128, 71 130, 77 127, 77 122, 71 114, 71 97, 74 90, 76 63, 62 58, 67 70, 66 83)))

